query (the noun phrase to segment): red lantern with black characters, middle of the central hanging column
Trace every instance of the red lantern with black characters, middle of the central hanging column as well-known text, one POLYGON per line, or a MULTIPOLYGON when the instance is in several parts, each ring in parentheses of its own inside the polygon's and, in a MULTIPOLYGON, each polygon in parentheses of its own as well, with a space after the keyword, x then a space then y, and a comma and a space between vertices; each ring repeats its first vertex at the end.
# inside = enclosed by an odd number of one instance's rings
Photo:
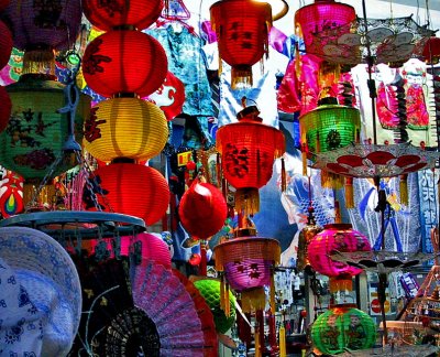
POLYGON ((246 107, 238 122, 221 127, 216 136, 223 176, 237 188, 235 208, 245 215, 258 210, 258 188, 271 180, 274 160, 286 150, 283 132, 262 123, 258 113, 256 107, 246 107))

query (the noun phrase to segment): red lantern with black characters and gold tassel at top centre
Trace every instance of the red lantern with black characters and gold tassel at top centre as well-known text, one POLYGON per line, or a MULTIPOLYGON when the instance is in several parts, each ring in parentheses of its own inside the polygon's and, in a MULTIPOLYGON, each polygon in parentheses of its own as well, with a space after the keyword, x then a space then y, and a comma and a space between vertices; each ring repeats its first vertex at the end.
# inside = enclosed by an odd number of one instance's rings
POLYGON ((272 8, 266 2, 222 0, 210 8, 219 55, 232 66, 231 85, 252 86, 252 65, 268 52, 272 8))

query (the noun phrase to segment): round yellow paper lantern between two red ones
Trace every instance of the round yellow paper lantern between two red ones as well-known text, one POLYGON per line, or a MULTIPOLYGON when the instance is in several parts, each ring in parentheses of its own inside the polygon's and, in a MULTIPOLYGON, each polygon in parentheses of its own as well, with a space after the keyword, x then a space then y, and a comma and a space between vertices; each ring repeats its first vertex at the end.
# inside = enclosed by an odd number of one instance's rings
POLYGON ((112 98, 91 108, 85 122, 85 149, 100 161, 145 161, 161 153, 168 139, 164 112, 139 98, 112 98))

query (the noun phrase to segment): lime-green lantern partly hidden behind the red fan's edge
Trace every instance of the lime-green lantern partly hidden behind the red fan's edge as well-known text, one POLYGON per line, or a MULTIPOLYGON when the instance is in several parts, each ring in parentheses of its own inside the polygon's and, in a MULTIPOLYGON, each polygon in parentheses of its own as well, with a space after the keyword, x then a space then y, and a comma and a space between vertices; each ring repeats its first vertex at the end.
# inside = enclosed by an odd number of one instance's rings
POLYGON ((231 314, 228 317, 223 310, 220 309, 220 281, 212 279, 196 280, 194 282, 196 288, 200 291, 209 309, 213 315, 216 329, 220 334, 224 334, 230 329, 235 322, 235 298, 229 291, 229 301, 231 304, 231 314))

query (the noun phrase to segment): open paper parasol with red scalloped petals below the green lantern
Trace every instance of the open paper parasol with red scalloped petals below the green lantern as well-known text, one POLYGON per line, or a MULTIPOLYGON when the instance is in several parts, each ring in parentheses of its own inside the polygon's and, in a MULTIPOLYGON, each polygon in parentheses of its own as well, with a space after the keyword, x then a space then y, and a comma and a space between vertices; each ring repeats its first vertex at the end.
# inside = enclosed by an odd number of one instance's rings
POLYGON ((352 143, 316 154, 314 169, 351 177, 394 177, 433 167, 440 153, 426 151, 410 142, 396 144, 352 143))

